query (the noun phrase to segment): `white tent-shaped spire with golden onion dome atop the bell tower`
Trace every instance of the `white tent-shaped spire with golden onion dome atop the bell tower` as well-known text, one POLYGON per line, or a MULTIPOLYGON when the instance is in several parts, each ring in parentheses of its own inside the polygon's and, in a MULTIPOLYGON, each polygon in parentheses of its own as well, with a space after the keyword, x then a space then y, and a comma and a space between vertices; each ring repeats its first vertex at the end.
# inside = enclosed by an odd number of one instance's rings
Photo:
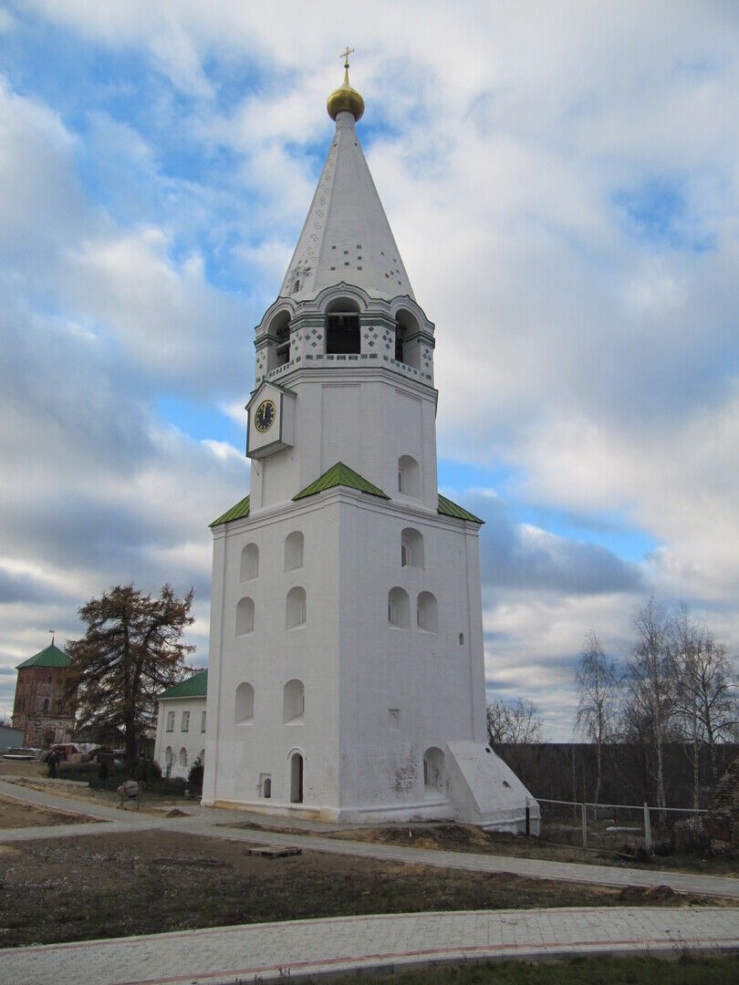
MULTIPOLYGON (((356 285, 372 297, 413 296, 355 129, 364 100, 349 85, 328 99, 336 136, 302 227, 280 296, 310 300, 324 288, 356 285)), ((414 298, 415 299, 415 298, 414 298)))

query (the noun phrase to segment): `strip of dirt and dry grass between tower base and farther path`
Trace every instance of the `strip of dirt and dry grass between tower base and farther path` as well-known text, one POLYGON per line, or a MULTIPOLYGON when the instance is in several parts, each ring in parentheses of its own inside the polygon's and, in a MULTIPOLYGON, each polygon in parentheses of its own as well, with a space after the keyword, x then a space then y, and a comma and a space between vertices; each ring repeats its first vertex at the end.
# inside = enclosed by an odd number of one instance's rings
MULTIPOLYGON (((247 821, 230 825, 240 828, 261 828, 269 831, 289 831, 277 824, 261 824, 247 821)), ((739 877, 739 858, 700 855, 655 856, 648 863, 630 855, 624 857, 613 852, 587 851, 571 845, 556 845, 537 838, 524 838, 514 834, 488 833, 473 824, 414 823, 386 827, 355 827, 321 833, 322 837, 348 838, 351 841, 371 841, 384 845, 402 845, 404 848, 443 849, 478 854, 510 855, 515 858, 549 859, 555 862, 577 862, 589 865, 614 865, 626 868, 672 869, 682 872, 699 872, 705 875, 739 877)))

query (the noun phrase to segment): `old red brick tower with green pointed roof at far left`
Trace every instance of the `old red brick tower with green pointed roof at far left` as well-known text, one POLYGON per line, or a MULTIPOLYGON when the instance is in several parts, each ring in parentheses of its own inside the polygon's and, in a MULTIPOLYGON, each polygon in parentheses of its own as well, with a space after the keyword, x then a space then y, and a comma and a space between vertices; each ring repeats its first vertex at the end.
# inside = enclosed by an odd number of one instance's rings
POLYGON ((13 728, 26 747, 67 742, 74 731, 74 697, 67 694, 69 657, 51 643, 18 665, 13 728))

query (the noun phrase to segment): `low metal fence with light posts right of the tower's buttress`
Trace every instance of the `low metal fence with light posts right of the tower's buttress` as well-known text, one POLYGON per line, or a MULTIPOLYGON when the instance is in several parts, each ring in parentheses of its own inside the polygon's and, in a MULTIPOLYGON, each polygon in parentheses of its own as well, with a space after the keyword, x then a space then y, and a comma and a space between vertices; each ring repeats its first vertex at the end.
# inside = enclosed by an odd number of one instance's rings
POLYGON ((694 808, 657 808, 638 804, 589 804, 537 799, 541 811, 543 841, 594 851, 634 855, 655 848, 675 850, 686 818, 704 815, 694 808), (677 826, 676 826, 677 825, 677 826))

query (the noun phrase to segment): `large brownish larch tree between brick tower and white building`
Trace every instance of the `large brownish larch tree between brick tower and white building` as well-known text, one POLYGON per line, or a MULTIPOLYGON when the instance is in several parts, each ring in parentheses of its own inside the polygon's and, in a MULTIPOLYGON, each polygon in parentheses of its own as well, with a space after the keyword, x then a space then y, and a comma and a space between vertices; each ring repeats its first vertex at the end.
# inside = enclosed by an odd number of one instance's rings
POLYGON ((182 642, 194 590, 178 598, 165 585, 159 598, 117 585, 80 609, 82 639, 67 644, 70 689, 77 692, 77 725, 92 732, 121 730, 126 758, 136 760, 139 737, 156 725, 157 694, 176 684, 194 650, 182 642))

